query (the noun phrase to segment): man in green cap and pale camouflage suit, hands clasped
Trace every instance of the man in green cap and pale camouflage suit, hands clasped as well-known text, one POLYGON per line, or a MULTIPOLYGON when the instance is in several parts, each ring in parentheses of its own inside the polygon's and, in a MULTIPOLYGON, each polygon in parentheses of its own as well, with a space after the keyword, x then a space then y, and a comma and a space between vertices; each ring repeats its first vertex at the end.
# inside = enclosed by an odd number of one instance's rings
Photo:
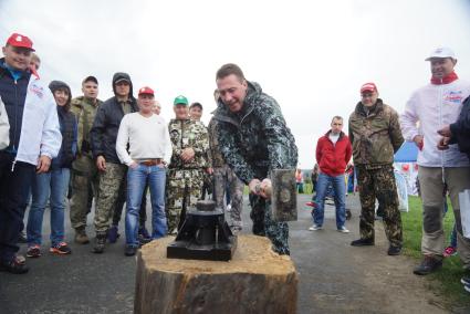
POLYGON ((209 139, 206 126, 189 119, 188 100, 174 102, 176 118, 168 124, 173 155, 168 166, 166 214, 168 233, 176 234, 185 221, 188 207, 196 207, 201 197, 203 171, 209 167, 209 139))

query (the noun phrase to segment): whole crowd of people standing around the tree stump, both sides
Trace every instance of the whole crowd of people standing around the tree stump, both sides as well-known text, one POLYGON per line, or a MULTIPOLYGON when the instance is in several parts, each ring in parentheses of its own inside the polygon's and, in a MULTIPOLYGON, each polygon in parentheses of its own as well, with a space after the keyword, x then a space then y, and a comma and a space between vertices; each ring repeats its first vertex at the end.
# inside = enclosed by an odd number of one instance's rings
MULTIPOLYGON (((206 127, 202 105, 184 95, 174 101, 175 118, 166 122, 152 87, 137 90, 130 76, 112 78, 114 96, 98 100, 98 81, 82 82, 83 95, 73 98, 70 86, 41 81, 40 59, 32 41, 12 34, 0 60, 0 270, 25 273, 18 255, 18 239, 29 199, 27 257, 42 253, 42 220, 51 208, 51 248, 54 254, 72 252, 64 239, 64 212, 70 198, 74 241, 86 244, 87 214, 95 205, 92 251, 103 253, 116 242, 124 205, 125 255, 139 245, 176 234, 186 211, 206 192, 228 213, 231 230, 242 229, 242 192, 250 191, 253 233, 268 237, 273 250, 290 254, 289 226, 271 217, 267 190, 272 169, 296 169, 297 148, 276 101, 258 83, 244 77, 236 64, 216 74, 217 109, 206 127), (152 203, 152 230, 145 223, 146 198, 152 203), (228 200, 230 199, 230 200, 228 200)), ((418 177, 422 198, 422 261, 414 270, 424 275, 443 260, 442 190, 447 188, 456 217, 457 250, 470 271, 470 240, 462 234, 459 192, 470 188, 470 84, 461 81, 457 59, 447 48, 435 50, 431 81, 412 93, 398 114, 379 98, 374 83, 361 86, 361 101, 348 118, 332 118, 331 129, 316 146, 315 197, 311 231, 323 228, 328 186, 334 192, 337 231, 348 233, 345 209, 345 171, 354 164, 361 198, 361 237, 354 247, 374 245, 375 207, 383 210, 387 253, 403 249, 403 227, 394 176, 394 154, 404 140, 419 147, 418 177)), ((299 189, 303 176, 296 175, 299 189)), ((462 278, 470 291, 470 278, 462 278)))

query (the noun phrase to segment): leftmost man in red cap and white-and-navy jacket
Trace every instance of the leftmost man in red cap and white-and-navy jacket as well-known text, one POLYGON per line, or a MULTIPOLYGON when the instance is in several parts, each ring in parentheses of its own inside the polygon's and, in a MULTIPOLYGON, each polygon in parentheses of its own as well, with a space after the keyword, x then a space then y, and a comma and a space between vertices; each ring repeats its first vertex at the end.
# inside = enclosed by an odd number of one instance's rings
POLYGON ((15 253, 23 229, 34 171, 46 172, 61 148, 62 135, 51 91, 29 70, 32 41, 13 33, 0 59, 0 97, 10 124, 10 143, 0 150, 0 271, 25 273, 15 253))

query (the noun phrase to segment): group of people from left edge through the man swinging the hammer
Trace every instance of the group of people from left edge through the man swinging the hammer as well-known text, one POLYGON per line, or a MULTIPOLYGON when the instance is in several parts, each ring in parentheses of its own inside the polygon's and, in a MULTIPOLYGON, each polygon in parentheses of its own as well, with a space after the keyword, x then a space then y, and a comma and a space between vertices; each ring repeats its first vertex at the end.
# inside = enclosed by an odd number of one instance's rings
POLYGON ((202 105, 184 95, 174 101, 175 118, 167 123, 152 87, 134 96, 130 76, 113 75, 114 96, 98 98, 98 81, 82 82, 83 95, 70 86, 40 80, 40 59, 32 41, 13 33, 0 60, 0 271, 25 273, 17 254, 28 205, 27 257, 42 254, 42 222, 51 209, 51 248, 70 254, 64 237, 66 199, 74 242, 90 243, 87 216, 94 203, 93 253, 116 242, 125 205, 125 255, 142 244, 176 234, 186 211, 208 191, 227 211, 233 233, 242 229, 242 193, 253 196, 253 232, 267 236, 273 249, 289 254, 289 228, 271 219, 264 190, 268 171, 294 169, 296 147, 278 103, 236 64, 217 73, 218 108, 206 127, 202 105), (258 106, 264 103, 263 109, 258 106), (255 105, 257 104, 257 105, 255 105), (270 108, 270 111, 265 111, 270 108), (243 118, 243 122, 241 119, 243 118), (269 132, 268 132, 269 130, 269 132), (253 137, 252 134, 259 134, 253 137), (278 143, 273 138, 285 137, 278 143), (274 150, 276 154, 268 154, 274 150), (152 230, 145 228, 146 198, 152 203, 152 230))

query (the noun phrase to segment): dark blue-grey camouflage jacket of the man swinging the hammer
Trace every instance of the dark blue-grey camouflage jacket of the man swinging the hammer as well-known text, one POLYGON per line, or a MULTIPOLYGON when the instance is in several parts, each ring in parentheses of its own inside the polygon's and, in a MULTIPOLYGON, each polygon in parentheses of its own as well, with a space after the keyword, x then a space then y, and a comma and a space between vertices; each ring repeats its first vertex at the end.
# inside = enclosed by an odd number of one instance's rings
POLYGON ((248 82, 240 112, 230 112, 219 100, 213 118, 220 153, 244 184, 267 178, 271 169, 296 167, 297 147, 281 107, 257 83, 248 82))

